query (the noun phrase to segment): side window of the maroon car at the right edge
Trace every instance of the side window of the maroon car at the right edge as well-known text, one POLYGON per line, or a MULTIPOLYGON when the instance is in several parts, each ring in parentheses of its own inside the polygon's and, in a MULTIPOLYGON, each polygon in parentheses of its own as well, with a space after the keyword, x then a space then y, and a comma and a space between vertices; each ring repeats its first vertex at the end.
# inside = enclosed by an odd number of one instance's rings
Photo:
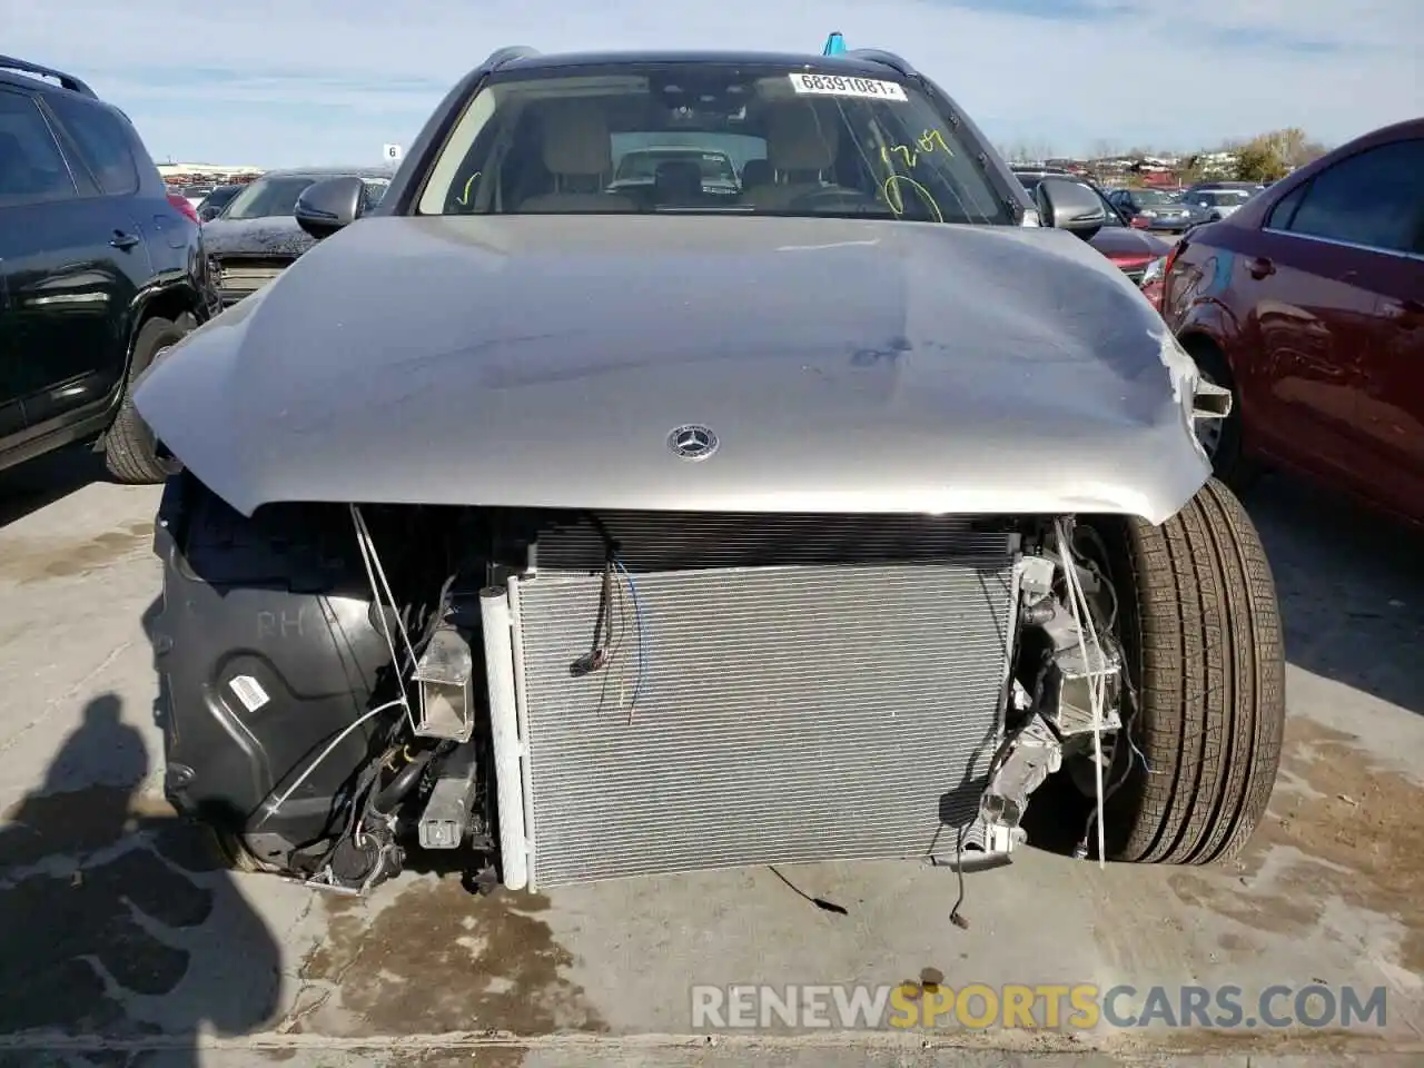
MULTIPOLYGON (((1421 174, 1424 138, 1368 148, 1312 178, 1299 209, 1283 228, 1351 245, 1414 252, 1424 218, 1421 174)), ((1272 212, 1273 226, 1279 225, 1280 208, 1272 212)))

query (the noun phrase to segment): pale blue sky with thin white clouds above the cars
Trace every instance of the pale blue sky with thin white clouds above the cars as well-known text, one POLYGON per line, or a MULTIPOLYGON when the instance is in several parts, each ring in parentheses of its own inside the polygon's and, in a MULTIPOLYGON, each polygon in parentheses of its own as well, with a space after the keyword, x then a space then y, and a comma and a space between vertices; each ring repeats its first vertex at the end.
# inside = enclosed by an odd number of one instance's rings
POLYGON ((159 162, 375 161, 506 44, 819 51, 832 30, 904 54, 1004 148, 1340 142, 1424 115, 1424 0, 0 0, 0 27, 159 162))

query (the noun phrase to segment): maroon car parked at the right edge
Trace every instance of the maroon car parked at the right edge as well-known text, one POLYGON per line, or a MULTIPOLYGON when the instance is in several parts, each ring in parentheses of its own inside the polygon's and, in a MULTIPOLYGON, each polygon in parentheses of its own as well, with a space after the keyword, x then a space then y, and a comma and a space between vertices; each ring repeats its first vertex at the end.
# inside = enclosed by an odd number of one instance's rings
POLYGON ((1341 145, 1193 229, 1162 313, 1232 390, 1227 481, 1286 468, 1424 525, 1424 118, 1341 145))

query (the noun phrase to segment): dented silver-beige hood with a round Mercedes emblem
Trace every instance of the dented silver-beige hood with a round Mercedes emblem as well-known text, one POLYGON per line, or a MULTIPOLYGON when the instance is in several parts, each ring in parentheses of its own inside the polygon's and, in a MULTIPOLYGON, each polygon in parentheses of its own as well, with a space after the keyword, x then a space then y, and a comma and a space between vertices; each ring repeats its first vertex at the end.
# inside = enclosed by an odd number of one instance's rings
POLYGON ((383 501, 1161 521, 1196 372, 1065 231, 372 216, 174 346, 141 416, 232 507, 383 501), (709 427, 718 450, 669 447, 709 427))

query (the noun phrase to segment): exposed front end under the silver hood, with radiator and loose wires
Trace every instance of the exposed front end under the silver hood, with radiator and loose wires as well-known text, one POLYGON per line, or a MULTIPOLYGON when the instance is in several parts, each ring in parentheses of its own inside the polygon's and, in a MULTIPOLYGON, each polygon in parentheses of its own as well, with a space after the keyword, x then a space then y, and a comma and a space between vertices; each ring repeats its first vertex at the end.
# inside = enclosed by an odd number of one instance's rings
POLYGON ((417 850, 474 890, 963 869, 1049 775, 1101 812, 1131 763, 1109 553, 1067 517, 245 518, 184 476, 157 548, 169 797, 322 889, 417 850))

